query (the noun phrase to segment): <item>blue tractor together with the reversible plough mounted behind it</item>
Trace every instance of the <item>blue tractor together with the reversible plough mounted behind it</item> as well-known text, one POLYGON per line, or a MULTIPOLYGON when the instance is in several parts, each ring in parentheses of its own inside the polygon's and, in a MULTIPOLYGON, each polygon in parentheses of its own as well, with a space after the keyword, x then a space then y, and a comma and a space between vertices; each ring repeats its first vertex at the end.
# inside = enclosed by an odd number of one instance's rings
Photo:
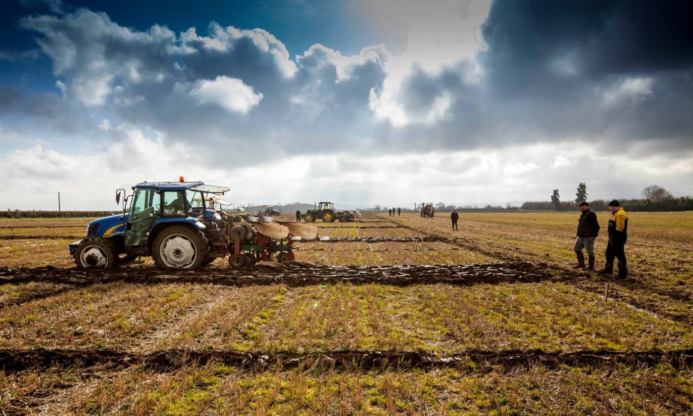
POLYGON ((308 224, 248 222, 215 210, 214 204, 229 204, 218 198, 229 190, 222 186, 181 178, 142 182, 132 190, 128 197, 124 189, 116 191, 116 203, 123 197, 122 214, 91 221, 86 237, 70 244, 78 267, 112 268, 151 256, 161 269, 194 269, 229 255, 229 265, 242 269, 261 261, 292 261, 298 237, 317 237, 317 228, 308 224))

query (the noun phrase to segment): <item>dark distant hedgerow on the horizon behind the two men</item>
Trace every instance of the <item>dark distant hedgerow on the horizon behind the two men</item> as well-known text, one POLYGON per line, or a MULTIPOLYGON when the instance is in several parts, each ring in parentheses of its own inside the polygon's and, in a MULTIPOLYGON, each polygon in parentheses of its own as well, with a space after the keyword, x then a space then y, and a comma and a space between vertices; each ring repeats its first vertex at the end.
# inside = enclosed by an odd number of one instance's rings
MULTIPOLYGON (((594 211, 608 210, 608 201, 597 199, 588 201, 590 208, 594 211)), ((626 211, 690 211, 693 210, 693 198, 678 197, 667 198, 662 201, 653 202, 649 199, 619 199, 621 206, 626 211)), ((521 210, 527 211, 555 211, 556 206, 550 201, 525 202, 520 206, 521 210)), ((561 202, 561 211, 575 210, 575 202, 561 202)))

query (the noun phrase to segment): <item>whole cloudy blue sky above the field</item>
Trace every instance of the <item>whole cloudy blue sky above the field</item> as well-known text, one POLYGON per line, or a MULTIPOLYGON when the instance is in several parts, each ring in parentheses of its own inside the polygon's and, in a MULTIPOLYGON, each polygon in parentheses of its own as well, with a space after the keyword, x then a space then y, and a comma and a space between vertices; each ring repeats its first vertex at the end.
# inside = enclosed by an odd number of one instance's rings
POLYGON ((0 0, 0 209, 693 195, 693 3, 0 0), (9 179, 9 180, 7 180, 9 179))

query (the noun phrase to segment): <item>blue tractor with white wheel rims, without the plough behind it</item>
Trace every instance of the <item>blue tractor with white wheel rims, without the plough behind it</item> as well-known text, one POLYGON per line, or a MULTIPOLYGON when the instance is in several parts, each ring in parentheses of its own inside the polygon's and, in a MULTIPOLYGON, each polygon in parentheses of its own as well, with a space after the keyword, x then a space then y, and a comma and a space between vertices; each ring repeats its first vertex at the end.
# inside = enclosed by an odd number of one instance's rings
POLYGON ((132 190, 127 198, 125 190, 116 191, 123 214, 91 221, 87 236, 70 244, 78 267, 112 268, 151 256, 159 268, 193 269, 229 253, 231 221, 210 204, 216 199, 210 194, 223 195, 229 188, 181 178, 138 183, 132 190))

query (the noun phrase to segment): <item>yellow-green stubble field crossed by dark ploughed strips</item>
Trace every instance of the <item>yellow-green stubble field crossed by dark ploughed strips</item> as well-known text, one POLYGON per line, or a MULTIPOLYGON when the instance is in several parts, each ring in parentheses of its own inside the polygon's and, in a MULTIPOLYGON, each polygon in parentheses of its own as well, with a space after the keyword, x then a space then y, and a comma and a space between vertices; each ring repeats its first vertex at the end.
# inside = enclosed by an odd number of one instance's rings
POLYGON ((629 215, 627 280, 571 268, 577 216, 317 222, 324 266, 243 273, 84 273, 88 219, 0 220, 0 414, 692 412, 693 213, 629 215))

